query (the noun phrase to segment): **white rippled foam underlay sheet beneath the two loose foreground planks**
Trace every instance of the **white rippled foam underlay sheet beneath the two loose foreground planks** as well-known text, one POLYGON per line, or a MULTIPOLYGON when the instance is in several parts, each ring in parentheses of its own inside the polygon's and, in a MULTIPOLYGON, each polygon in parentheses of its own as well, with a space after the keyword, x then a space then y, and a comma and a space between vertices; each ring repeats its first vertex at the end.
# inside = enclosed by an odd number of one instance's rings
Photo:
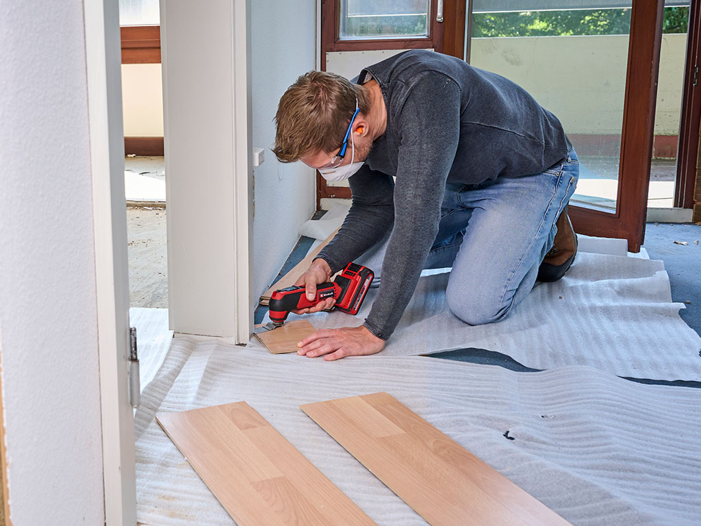
POLYGON ((380 355, 325 362, 180 335, 136 412, 139 523, 233 524, 154 416, 245 400, 379 525, 426 524, 299 409, 376 391, 573 525, 701 523, 698 389, 584 366, 512 372, 380 355))

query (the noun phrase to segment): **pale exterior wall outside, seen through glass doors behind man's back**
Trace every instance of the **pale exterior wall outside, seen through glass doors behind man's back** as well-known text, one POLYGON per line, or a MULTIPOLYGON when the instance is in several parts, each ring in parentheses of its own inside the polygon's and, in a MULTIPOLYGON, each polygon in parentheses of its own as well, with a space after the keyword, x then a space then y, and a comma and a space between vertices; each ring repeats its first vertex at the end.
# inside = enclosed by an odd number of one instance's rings
MULTIPOLYGON (((473 66, 529 90, 568 133, 620 134, 627 35, 472 39, 473 66)), ((677 135, 686 34, 662 36, 655 135, 677 135)))

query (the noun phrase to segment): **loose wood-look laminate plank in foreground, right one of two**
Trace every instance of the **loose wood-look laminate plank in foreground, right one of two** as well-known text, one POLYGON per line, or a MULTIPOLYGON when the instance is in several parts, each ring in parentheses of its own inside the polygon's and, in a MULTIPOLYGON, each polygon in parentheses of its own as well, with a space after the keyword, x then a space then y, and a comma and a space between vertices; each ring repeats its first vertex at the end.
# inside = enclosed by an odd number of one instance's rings
POLYGON ((388 393, 300 407, 433 526, 569 525, 388 393))

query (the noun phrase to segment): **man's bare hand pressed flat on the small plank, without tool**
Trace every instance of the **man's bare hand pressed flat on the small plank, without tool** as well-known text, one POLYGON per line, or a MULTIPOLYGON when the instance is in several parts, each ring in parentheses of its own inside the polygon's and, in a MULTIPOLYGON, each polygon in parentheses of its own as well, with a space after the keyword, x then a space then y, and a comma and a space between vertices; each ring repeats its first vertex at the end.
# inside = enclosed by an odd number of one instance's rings
POLYGON ((303 339, 297 346, 297 354, 308 358, 324 356, 325 360, 338 360, 346 356, 361 356, 379 353, 385 348, 385 341, 360 327, 323 329, 303 339))

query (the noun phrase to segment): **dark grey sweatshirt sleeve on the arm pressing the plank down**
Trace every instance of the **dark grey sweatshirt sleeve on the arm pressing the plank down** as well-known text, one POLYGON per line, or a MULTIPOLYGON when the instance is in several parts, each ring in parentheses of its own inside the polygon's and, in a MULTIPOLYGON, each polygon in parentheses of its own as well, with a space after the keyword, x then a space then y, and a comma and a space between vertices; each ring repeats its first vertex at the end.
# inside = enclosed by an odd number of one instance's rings
POLYGON ((458 147, 460 108, 457 83, 431 72, 414 83, 395 121, 400 149, 394 228, 378 295, 365 320, 381 339, 388 339, 399 323, 435 241, 445 183, 458 147))

